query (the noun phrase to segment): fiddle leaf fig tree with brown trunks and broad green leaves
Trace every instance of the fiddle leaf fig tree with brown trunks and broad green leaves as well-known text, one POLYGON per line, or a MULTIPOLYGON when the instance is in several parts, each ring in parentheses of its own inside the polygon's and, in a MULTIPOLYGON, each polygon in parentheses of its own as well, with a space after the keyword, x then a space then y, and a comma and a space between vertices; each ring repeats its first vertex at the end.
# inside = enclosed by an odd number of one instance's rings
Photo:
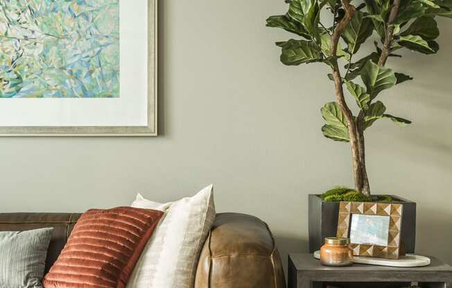
POLYGON ((365 165, 364 132, 377 120, 389 119, 406 126, 411 122, 386 113, 378 100, 383 91, 412 80, 386 66, 400 49, 423 54, 437 53, 440 35, 435 17, 452 18, 452 0, 286 0, 286 15, 268 17, 267 26, 293 33, 294 39, 277 42, 281 62, 288 66, 322 62, 329 69, 336 101, 321 109, 325 137, 348 142, 354 170, 355 190, 370 196, 365 165), (355 2, 355 1, 354 1, 355 2), (322 21, 322 10, 329 19, 322 21), (375 51, 356 59, 372 35, 375 51), (347 96, 346 94, 349 94, 347 96), (356 105, 354 115, 350 105, 356 105))

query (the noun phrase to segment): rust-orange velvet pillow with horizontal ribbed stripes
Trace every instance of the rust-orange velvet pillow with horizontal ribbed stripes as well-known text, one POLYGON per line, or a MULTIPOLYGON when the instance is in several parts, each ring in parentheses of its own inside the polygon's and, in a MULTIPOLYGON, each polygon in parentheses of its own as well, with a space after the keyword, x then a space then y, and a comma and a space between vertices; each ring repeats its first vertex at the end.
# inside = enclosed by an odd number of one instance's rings
POLYGON ((162 215, 132 207, 88 210, 45 276, 44 287, 125 287, 162 215))

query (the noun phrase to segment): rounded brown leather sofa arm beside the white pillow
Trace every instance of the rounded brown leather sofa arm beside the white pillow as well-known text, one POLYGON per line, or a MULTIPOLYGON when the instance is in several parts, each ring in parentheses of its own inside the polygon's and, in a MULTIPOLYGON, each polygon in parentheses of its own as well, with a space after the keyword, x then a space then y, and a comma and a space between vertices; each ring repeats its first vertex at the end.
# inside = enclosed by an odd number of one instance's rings
POLYGON ((238 213, 216 216, 202 249, 195 288, 284 288, 281 258, 267 224, 238 213))

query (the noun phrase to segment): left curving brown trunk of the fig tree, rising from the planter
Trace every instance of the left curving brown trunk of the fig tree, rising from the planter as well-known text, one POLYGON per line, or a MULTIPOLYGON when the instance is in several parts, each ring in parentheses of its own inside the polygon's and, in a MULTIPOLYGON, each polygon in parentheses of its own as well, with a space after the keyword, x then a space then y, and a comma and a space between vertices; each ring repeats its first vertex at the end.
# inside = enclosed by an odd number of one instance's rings
POLYGON ((338 44, 340 40, 340 35, 344 33, 345 29, 351 22, 351 19, 355 15, 355 7, 350 4, 349 0, 342 0, 342 6, 345 10, 345 16, 342 20, 337 24, 336 28, 331 35, 331 46, 330 46, 330 55, 333 57, 332 61, 332 69, 333 69, 333 79, 334 85, 336 89, 336 99, 342 110, 342 113, 347 120, 349 135, 350 135, 350 145, 351 145, 351 158, 353 161, 354 175, 355 175, 355 189, 358 192, 363 190, 363 177, 362 177, 362 168, 360 163, 359 156, 359 144, 358 137, 356 134, 356 123, 353 118, 353 114, 351 110, 347 106, 347 102, 345 102, 344 97, 344 89, 342 87, 342 77, 340 75, 340 70, 338 66, 337 60, 337 52, 338 52, 338 44))

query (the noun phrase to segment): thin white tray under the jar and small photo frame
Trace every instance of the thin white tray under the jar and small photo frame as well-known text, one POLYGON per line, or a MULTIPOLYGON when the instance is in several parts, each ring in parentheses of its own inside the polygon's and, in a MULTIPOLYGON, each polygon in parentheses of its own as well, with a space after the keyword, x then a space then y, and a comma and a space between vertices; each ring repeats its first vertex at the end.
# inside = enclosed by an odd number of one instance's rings
MULTIPOLYGON (((320 251, 314 252, 314 258, 320 259, 320 251)), ((401 256, 399 260, 354 256, 353 262, 390 267, 422 267, 430 265, 430 258, 415 254, 406 254, 406 256, 401 256)))

